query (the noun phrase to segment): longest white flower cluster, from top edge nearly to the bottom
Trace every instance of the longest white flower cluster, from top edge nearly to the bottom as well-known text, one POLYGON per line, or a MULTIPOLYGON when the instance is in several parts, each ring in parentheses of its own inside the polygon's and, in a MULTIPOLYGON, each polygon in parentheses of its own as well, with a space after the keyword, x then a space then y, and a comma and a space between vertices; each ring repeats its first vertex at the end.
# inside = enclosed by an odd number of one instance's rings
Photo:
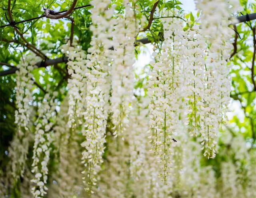
POLYGON ((104 152, 106 123, 108 118, 109 100, 109 59, 107 51, 109 46, 108 38, 111 37, 111 29, 114 24, 110 20, 114 8, 108 9, 109 0, 92 1, 92 26, 93 37, 91 48, 88 49, 86 66, 86 120, 83 128, 83 135, 86 140, 82 146, 86 149, 82 152, 82 163, 85 166, 83 174, 87 183, 86 191, 93 193, 91 186, 96 185, 96 174, 100 171, 102 154, 104 152))

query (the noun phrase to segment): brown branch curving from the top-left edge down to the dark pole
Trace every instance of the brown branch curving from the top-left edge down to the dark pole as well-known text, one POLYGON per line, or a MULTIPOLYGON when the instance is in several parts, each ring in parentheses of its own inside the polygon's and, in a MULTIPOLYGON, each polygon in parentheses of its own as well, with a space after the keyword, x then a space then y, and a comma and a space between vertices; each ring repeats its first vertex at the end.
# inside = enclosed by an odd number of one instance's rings
POLYGON ((46 55, 42 53, 40 50, 38 50, 34 45, 31 45, 23 36, 23 34, 20 32, 20 30, 15 26, 15 22, 12 18, 12 12, 11 12, 11 0, 8 0, 8 15, 10 17, 11 24, 13 24, 15 32, 20 36, 20 38, 25 42, 26 47, 29 48, 32 52, 34 52, 37 56, 40 56, 43 59, 46 59, 46 55))

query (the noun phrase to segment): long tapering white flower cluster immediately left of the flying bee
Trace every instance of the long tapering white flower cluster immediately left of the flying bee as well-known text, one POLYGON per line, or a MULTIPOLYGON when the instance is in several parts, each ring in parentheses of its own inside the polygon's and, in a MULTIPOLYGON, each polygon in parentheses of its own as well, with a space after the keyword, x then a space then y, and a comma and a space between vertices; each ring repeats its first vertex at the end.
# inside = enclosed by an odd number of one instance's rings
POLYGON ((176 92, 180 76, 181 45, 184 40, 183 23, 173 18, 164 23, 165 42, 158 52, 156 63, 153 64, 148 82, 148 96, 150 97, 150 128, 152 129, 152 151, 159 156, 162 164, 163 180, 166 182, 170 170, 170 145, 172 134, 178 125, 180 97, 176 92), (175 30, 175 31, 173 31, 175 30))

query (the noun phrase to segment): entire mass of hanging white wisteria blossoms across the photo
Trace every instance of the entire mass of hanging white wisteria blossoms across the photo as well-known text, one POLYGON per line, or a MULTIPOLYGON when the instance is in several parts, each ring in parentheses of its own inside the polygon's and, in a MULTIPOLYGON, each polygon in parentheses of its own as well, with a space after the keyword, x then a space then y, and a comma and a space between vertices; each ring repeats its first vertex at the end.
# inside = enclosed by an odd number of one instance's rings
MULTIPOLYGON (((67 95, 64 100, 58 97, 59 90, 48 87, 41 88, 42 97, 34 100, 33 70, 40 61, 36 56, 26 54, 17 66, 18 127, 9 156, 20 160, 11 162, 11 182, 24 176, 34 138, 30 186, 34 198, 47 194, 49 181, 56 185, 49 185, 52 197, 219 198, 215 173, 211 166, 202 168, 200 154, 209 159, 219 152, 219 131, 230 102, 229 26, 232 12, 240 9, 236 2, 197 0, 201 13, 194 20, 177 6, 170 10, 156 1, 143 28, 145 18, 138 14, 136 1, 116 5, 92 0, 90 47, 84 50, 76 42, 61 46, 68 60, 67 86, 60 91, 67 95), (160 39, 155 40, 150 26, 160 19, 160 39), (139 83, 136 39, 146 31, 154 40, 153 60, 139 83), (137 94, 138 87, 143 87, 143 94, 137 94), (51 155, 58 157, 50 162, 51 155), (51 178, 49 163, 58 167, 51 178)), ((228 152, 236 150, 235 160, 254 155, 242 149, 244 144, 241 137, 228 142, 228 152)), ((253 164, 246 166, 252 175, 248 189, 255 187, 253 164)), ((242 165, 231 161, 221 165, 222 195, 242 193, 236 170, 242 165)))

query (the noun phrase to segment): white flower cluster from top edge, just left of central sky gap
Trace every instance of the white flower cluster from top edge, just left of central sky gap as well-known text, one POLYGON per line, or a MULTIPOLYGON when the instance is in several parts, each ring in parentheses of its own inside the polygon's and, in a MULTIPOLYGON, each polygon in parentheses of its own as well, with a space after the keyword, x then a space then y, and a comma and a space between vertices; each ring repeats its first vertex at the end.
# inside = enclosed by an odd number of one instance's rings
POLYGON ((133 96, 134 42, 136 36, 136 18, 129 0, 124 0, 124 16, 116 18, 112 46, 111 64, 111 111, 114 135, 122 134, 128 126, 129 105, 133 96))

